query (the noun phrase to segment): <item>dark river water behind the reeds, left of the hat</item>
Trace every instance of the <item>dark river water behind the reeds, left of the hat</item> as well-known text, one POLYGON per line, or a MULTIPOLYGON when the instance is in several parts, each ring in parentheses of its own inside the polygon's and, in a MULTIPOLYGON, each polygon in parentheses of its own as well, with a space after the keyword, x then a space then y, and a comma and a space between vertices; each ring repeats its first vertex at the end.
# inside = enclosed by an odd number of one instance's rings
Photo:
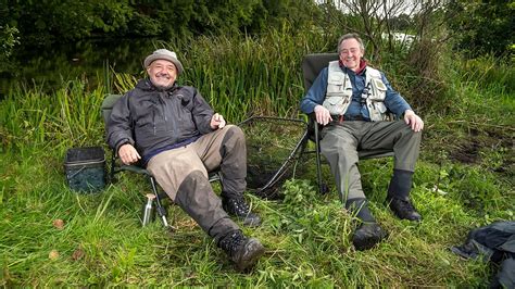
POLYGON ((145 56, 162 47, 162 41, 151 38, 16 47, 8 64, 10 70, 0 73, 0 99, 18 85, 52 91, 63 81, 86 78, 96 86, 103 78, 106 64, 117 73, 138 75, 145 56))

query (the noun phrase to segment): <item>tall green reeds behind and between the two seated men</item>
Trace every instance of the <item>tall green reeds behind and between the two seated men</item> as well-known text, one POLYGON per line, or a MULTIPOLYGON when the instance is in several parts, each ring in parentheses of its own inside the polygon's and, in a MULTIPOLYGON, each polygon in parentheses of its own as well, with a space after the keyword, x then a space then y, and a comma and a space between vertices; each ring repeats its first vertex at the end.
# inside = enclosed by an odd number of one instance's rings
MULTIPOLYGON (((261 37, 201 36, 163 46, 176 51, 185 66, 178 81, 198 88, 217 111, 237 123, 252 114, 297 117, 304 93, 302 56, 334 50, 336 37, 272 30, 261 37)), ((122 81, 120 90, 131 88, 130 80, 122 81)))

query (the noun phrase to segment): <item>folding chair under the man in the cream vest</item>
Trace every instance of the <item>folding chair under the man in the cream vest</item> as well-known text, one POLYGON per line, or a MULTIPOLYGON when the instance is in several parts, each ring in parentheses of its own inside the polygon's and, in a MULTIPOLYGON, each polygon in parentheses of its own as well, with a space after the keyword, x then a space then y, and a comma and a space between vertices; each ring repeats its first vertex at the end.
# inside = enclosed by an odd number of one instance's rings
MULTIPOLYGON (((302 74, 304 77, 304 89, 307 93, 313 81, 315 81, 316 77, 321 73, 324 67, 327 67, 329 62, 338 60, 338 53, 316 53, 316 54, 307 54, 302 60, 302 74)), ((307 135, 304 139, 304 142, 301 148, 301 154, 303 153, 315 153, 316 154, 316 177, 318 181, 318 191, 324 193, 327 189, 324 188, 322 184, 322 166, 321 166, 321 144, 319 144, 319 130, 321 125, 318 125, 314 118, 314 115, 310 115, 309 127, 307 127, 307 135), (315 150, 306 150, 307 142, 314 141, 315 142, 315 150)), ((392 150, 360 150, 357 151, 357 155, 360 160, 366 159, 376 159, 376 158, 385 158, 385 156, 392 156, 392 150)))

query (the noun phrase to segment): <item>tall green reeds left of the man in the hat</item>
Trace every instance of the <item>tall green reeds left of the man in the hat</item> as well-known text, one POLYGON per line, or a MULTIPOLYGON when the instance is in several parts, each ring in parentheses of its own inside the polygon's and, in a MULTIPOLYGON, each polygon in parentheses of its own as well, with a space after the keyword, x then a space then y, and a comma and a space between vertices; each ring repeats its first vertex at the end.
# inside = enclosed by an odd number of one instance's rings
POLYGON ((102 143, 104 95, 102 86, 88 91, 79 79, 63 83, 54 93, 18 87, 0 106, 3 148, 40 146, 62 152, 73 146, 102 143))

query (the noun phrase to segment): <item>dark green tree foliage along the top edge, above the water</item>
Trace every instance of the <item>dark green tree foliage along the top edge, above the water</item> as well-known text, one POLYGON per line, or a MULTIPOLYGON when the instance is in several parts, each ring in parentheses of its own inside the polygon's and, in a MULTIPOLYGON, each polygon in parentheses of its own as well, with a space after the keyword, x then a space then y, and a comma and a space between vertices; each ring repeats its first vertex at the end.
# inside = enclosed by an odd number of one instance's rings
POLYGON ((234 32, 261 33, 290 22, 306 26, 313 1, 98 1, 7 0, 0 25, 16 27, 23 43, 65 42, 89 37, 177 37, 234 32), (292 12, 294 14, 292 14, 292 12))

